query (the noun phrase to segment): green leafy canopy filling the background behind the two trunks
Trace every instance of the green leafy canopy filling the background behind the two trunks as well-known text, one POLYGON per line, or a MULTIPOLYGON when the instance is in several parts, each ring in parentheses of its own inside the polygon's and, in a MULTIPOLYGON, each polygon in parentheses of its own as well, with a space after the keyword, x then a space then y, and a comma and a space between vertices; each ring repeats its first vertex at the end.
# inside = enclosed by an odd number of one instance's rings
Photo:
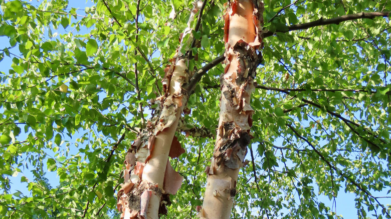
MULTIPOLYGON (((165 218, 196 217, 213 154, 226 2, 205 2, 188 29, 193 80, 175 133, 186 152, 170 159, 183 183, 165 218)), ((0 72, 0 215, 118 216, 126 151, 154 117, 194 2, 0 3, 0 39, 9 41, 0 45, 9 64, 0 72), (30 193, 13 183, 25 172, 34 174, 21 177, 30 193)), ((264 4, 249 162, 232 218, 339 218, 343 192, 355 195, 358 218, 391 218, 391 3, 264 4)))

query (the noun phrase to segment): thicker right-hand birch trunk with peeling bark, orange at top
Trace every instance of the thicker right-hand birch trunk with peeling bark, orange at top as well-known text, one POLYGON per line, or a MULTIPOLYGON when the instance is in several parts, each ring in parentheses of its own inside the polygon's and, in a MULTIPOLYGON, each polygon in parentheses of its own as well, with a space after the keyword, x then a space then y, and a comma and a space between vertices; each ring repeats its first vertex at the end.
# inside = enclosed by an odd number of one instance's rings
POLYGON ((225 14, 226 68, 221 75, 220 118, 201 218, 230 218, 239 169, 244 165, 254 110, 256 68, 262 60, 263 2, 233 0, 225 14))

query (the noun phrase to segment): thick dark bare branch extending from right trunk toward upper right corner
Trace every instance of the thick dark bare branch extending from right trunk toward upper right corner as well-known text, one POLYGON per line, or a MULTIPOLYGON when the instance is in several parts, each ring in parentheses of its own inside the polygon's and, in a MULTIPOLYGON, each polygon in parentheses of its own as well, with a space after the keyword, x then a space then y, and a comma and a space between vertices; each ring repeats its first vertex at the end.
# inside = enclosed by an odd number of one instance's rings
POLYGON ((386 17, 386 16, 389 16, 389 12, 390 11, 360 12, 360 13, 352 13, 352 14, 346 14, 346 15, 342 15, 342 16, 338 16, 338 17, 333 17, 330 19, 323 19, 323 17, 321 17, 320 19, 317 19, 315 21, 294 24, 291 26, 287 26, 287 28, 284 28, 284 29, 276 29, 274 32, 266 31, 263 33, 263 37, 265 38, 265 37, 271 36, 276 32, 289 32, 292 30, 308 29, 308 28, 314 27, 314 26, 339 24, 340 22, 344 22, 344 21, 348 21, 348 20, 355 20, 355 19, 362 19, 362 18, 373 19, 378 16, 386 17))

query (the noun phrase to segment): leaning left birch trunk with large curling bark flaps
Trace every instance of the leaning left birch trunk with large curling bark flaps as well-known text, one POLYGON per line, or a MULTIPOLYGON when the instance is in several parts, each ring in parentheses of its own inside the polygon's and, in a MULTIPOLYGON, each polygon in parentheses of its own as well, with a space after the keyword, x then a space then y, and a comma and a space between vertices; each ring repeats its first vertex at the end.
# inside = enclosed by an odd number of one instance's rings
POLYGON ((189 79, 188 54, 181 51, 182 48, 187 51, 188 47, 183 46, 191 44, 190 24, 201 3, 194 3, 182 37, 187 40, 180 41, 171 66, 165 69, 164 95, 156 99, 160 101, 156 109, 159 116, 147 122, 147 128, 140 132, 127 152, 124 183, 117 194, 121 218, 158 218, 158 214, 167 212, 165 205, 170 204, 169 194, 176 194, 182 183, 182 176, 171 167, 168 156, 177 157, 184 152, 174 136, 188 99, 187 91, 183 89, 189 79))

